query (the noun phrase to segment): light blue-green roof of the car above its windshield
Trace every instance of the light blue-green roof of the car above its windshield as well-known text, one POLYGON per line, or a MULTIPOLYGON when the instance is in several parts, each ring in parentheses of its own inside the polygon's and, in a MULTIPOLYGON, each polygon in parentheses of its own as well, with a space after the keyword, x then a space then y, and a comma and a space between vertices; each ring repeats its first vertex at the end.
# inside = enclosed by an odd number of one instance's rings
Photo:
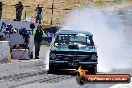
POLYGON ((87 31, 77 31, 77 30, 59 30, 56 34, 85 34, 89 36, 93 36, 90 32, 87 31))

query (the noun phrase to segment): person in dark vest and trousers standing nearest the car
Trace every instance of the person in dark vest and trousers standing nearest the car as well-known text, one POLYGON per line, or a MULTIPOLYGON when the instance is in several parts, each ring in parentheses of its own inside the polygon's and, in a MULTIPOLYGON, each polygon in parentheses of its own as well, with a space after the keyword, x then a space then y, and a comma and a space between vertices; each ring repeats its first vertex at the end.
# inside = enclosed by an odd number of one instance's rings
POLYGON ((42 26, 38 25, 37 30, 33 31, 34 43, 35 43, 35 59, 39 59, 39 51, 41 42, 45 37, 45 33, 42 30, 42 26))

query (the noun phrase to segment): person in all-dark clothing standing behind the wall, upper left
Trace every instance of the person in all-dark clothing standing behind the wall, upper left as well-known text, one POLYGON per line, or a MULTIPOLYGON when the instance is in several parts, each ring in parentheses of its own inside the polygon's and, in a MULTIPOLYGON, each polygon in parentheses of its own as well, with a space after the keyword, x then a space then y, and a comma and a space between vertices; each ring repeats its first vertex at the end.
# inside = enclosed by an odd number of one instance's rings
POLYGON ((15 8, 16 8, 16 21, 21 21, 22 10, 23 10, 22 2, 16 4, 15 8))

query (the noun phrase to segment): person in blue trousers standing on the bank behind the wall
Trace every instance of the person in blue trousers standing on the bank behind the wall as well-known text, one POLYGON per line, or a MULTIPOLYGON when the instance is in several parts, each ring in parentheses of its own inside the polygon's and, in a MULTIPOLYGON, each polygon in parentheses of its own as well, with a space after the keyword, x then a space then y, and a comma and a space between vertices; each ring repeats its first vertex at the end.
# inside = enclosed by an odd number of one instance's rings
POLYGON ((42 7, 40 6, 40 4, 38 4, 38 6, 36 7, 35 11, 37 12, 36 23, 41 24, 41 19, 42 19, 42 7))

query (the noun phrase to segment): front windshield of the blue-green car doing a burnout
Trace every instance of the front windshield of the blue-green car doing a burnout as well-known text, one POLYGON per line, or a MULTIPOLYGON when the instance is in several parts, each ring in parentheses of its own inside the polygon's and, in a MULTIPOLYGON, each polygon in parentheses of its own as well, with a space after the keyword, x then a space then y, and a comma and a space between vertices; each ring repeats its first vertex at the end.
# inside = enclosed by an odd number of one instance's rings
POLYGON ((61 34, 56 35, 55 42, 58 45, 70 44, 70 43, 79 43, 81 45, 93 45, 92 36, 86 36, 81 34, 61 34))

